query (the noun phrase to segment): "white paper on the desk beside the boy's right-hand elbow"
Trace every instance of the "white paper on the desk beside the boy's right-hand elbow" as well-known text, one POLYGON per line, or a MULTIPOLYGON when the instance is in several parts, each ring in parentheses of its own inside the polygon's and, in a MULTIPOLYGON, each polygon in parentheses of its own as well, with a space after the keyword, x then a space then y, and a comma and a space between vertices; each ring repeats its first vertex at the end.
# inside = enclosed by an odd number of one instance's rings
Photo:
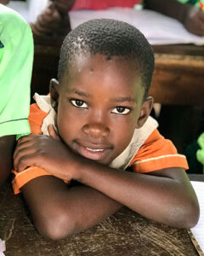
POLYGON ((191 182, 200 205, 200 218, 194 228, 191 229, 196 241, 204 252, 204 183, 203 182, 191 182))

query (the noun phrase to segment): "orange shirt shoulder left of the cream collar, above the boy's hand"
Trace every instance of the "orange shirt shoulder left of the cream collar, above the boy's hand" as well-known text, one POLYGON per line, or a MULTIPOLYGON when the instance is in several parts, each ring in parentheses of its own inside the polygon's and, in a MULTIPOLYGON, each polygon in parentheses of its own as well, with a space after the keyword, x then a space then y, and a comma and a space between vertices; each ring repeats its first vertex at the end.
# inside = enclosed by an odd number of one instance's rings
POLYGON ((31 104, 28 119, 31 125, 32 134, 42 134, 42 131, 41 131, 42 121, 47 115, 48 113, 38 108, 36 103, 31 104))

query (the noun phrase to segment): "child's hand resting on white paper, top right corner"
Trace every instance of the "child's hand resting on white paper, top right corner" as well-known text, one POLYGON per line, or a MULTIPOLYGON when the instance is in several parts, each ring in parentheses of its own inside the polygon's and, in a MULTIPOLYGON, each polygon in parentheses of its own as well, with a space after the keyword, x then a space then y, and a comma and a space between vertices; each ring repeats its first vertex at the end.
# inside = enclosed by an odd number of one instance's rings
POLYGON ((204 36, 204 11, 196 7, 190 8, 185 17, 184 26, 189 32, 204 36))

